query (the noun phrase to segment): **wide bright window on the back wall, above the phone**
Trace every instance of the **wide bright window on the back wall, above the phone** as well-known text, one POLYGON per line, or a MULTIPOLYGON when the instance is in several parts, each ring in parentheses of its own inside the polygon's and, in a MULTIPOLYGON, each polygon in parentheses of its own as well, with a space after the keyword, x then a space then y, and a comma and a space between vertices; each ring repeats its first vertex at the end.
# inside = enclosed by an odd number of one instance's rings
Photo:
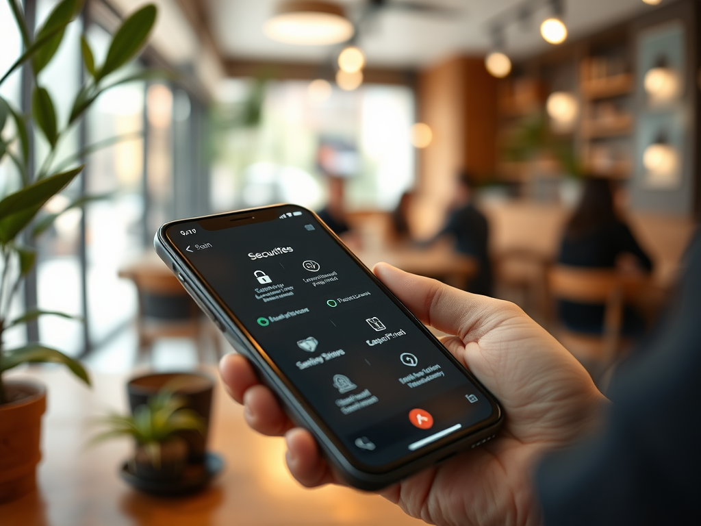
MULTIPOLYGON (((318 83, 318 81, 315 81, 318 83)), ((414 183, 414 95, 403 86, 364 85, 320 93, 317 84, 269 82, 259 119, 255 84, 227 82, 217 110, 211 203, 231 210, 290 201, 321 208, 320 146, 334 150, 348 179, 348 210, 391 210, 414 183)), ((337 162, 336 162, 337 161, 337 162)))

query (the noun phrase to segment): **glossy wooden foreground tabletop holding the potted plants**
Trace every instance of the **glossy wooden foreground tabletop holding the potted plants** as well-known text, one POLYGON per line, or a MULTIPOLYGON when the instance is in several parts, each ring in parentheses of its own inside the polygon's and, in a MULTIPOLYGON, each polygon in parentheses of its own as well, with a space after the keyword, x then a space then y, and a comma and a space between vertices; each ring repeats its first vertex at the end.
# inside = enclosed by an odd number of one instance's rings
MULTIPOLYGON (((207 369, 217 377, 214 368, 207 369)), ((216 526, 216 525, 421 525, 382 497, 346 487, 307 490, 285 467, 283 438, 247 428, 243 408, 220 384, 213 400, 210 450, 226 461, 212 485, 191 497, 164 499, 132 490, 118 476, 130 440, 86 448, 90 419, 108 408, 127 407, 130 375, 93 374, 93 389, 62 369, 32 369, 48 387, 43 418, 39 489, 0 505, 2 526, 216 526)))

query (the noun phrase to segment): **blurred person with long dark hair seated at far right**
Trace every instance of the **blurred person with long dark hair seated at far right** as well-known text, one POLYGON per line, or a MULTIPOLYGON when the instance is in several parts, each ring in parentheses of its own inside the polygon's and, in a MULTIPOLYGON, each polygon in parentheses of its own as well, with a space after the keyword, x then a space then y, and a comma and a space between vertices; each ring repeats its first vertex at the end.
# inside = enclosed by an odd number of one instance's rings
MULTIPOLYGON (((600 177, 587 177, 576 210, 566 224, 558 262, 572 267, 619 269, 622 272, 650 272, 650 257, 622 220, 625 191, 600 177)), ((604 305, 560 300, 559 317, 566 328, 587 334, 601 334, 604 305)), ((637 336, 646 327, 644 318, 625 306, 622 334, 637 336)))

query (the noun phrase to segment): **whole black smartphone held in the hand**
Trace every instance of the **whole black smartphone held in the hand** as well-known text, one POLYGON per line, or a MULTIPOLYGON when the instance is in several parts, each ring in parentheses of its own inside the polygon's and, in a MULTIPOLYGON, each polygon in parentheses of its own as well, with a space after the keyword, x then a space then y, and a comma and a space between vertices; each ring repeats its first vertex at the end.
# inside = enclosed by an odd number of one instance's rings
POLYGON ((349 485, 379 490, 501 425, 496 398, 310 210, 169 222, 154 245, 349 485))

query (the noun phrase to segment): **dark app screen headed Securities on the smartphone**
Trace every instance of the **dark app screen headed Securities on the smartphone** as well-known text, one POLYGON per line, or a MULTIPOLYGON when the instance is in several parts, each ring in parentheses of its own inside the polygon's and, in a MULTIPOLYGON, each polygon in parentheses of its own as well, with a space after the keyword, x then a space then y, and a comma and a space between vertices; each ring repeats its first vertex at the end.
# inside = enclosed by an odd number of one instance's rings
POLYGON ((351 454, 383 466, 491 416, 484 392, 313 215, 280 210, 167 235, 351 454))

